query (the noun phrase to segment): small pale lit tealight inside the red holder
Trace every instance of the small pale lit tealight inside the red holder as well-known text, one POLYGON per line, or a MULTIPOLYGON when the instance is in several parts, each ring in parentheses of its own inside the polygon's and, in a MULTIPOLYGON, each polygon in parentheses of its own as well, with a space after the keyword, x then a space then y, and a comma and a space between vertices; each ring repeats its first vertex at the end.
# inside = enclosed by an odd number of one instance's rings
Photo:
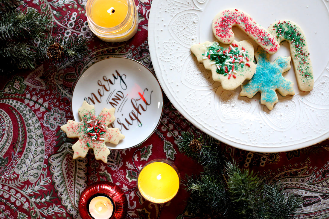
POLYGON ((89 203, 89 213, 95 219, 108 219, 113 214, 113 204, 108 197, 96 196, 89 203))

